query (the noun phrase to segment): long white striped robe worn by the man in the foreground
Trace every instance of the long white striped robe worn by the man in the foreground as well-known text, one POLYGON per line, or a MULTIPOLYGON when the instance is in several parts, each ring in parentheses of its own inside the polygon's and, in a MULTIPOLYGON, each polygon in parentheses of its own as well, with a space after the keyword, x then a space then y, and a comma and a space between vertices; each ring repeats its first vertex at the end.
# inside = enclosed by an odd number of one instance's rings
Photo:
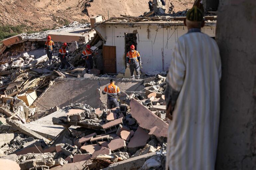
POLYGON ((166 170, 214 170, 220 78, 215 40, 201 32, 181 36, 167 77, 180 94, 169 123, 166 170))

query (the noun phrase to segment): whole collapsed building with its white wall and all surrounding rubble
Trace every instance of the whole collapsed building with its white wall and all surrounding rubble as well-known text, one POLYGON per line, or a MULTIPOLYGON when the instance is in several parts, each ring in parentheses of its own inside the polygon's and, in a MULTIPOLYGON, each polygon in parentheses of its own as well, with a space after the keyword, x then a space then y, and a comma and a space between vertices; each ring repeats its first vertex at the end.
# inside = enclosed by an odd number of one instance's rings
MULTIPOLYGON (((21 170, 164 169, 168 56, 186 30, 184 17, 165 15, 162 7, 1 41, 0 160, 21 170), (57 44, 52 65, 43 54, 47 35, 57 44), (57 71, 64 42, 75 69, 57 71), (92 74, 80 57, 86 44, 97 51, 92 74), (139 80, 125 67, 131 44, 142 54, 139 80), (101 94, 110 79, 122 91, 113 109, 101 94)), ((204 32, 215 37, 216 16, 205 19, 204 32)))

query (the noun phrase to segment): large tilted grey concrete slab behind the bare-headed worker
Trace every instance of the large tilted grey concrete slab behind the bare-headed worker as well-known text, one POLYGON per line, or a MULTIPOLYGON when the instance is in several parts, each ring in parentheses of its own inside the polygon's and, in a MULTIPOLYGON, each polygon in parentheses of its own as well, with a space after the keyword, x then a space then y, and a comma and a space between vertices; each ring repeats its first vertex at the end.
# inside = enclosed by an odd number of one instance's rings
MULTIPOLYGON (((142 85, 143 80, 115 79, 115 81, 120 90, 124 92, 140 91, 140 89, 144 88, 142 85)), ((107 95, 103 95, 101 91, 109 82, 109 78, 57 78, 53 85, 48 87, 37 98, 34 105, 40 110, 59 106, 59 103, 62 108, 71 102, 88 104, 93 108, 101 108, 101 104, 105 104, 107 101, 107 95)))

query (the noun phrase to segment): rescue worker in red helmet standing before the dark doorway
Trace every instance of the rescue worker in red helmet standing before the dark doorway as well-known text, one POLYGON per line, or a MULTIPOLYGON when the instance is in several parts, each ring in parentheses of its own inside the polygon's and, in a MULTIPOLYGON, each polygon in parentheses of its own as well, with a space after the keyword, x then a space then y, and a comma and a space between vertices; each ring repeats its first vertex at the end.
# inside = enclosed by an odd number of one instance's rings
POLYGON ((131 78, 134 79, 134 70, 136 73, 136 79, 140 79, 140 67, 141 59, 140 53, 135 50, 135 46, 131 45, 131 50, 126 55, 126 66, 130 67, 131 78))

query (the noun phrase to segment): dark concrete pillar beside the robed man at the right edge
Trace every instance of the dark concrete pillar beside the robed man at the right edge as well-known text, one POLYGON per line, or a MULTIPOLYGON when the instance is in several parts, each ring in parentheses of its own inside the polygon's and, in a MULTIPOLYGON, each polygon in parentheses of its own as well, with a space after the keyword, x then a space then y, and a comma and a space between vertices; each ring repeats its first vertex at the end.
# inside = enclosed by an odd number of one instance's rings
POLYGON ((216 40, 222 60, 216 170, 256 169, 255 0, 220 0, 216 40))

